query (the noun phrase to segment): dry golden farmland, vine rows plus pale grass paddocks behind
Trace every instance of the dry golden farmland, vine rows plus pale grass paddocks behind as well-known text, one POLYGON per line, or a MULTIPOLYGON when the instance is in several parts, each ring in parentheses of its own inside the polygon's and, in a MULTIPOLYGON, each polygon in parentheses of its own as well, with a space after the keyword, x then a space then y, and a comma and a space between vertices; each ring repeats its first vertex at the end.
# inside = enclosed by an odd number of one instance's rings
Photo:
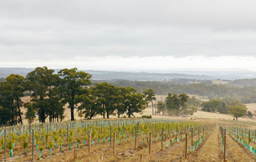
MULTIPOLYGON (((165 96, 157 97, 158 100, 165 98, 165 96)), ((29 102, 30 98, 24 97, 22 100, 24 102, 29 102)), ((200 110, 194 113, 194 115, 188 117, 152 115, 152 107, 150 106, 151 105, 149 104, 149 107, 143 110, 143 113, 134 113, 136 118, 130 119, 118 119, 117 116, 113 115, 110 115, 111 119, 102 119, 102 116, 98 115, 94 117, 93 120, 82 120, 80 117, 78 117, 78 113, 74 111, 76 121, 69 122, 70 109, 68 109, 67 105, 65 105, 65 119, 63 122, 41 124, 39 127, 39 121, 36 119, 31 125, 31 129, 34 128, 35 130, 35 139, 33 141, 33 161, 100 162, 102 154, 103 162, 179 162, 180 157, 182 157, 182 162, 219 162, 224 158, 220 126, 226 128, 227 131, 226 159, 228 161, 254 162, 256 160, 254 151, 256 148, 255 117, 252 119, 248 117, 239 117, 239 121, 233 121, 232 115, 210 113, 200 110), (137 118, 141 117, 141 115, 152 115, 152 119, 137 118), (135 127, 137 127, 138 122, 139 130, 135 131, 135 127), (177 122, 178 129, 176 127, 177 122), (199 133, 197 124, 200 130, 199 133), (110 139, 108 139, 108 137, 110 137, 110 125, 112 126, 111 146, 109 142, 110 139), (124 125, 124 128, 122 125, 124 125), (88 127, 89 130, 91 130, 90 153, 88 145, 88 127), (161 141, 161 128, 163 128, 163 144, 161 141), (192 145, 191 128, 193 128, 192 145), (237 128, 239 130, 238 137, 237 128), (241 129, 243 129, 243 141, 241 141, 241 129), (178 136, 176 137, 177 130, 178 136), (251 131, 250 135, 249 130, 251 131), (187 159, 185 159, 184 151, 186 144, 185 131, 188 133, 187 159), (69 132, 68 138, 67 132, 69 132), (113 132, 116 132, 115 156, 113 156, 113 132), (136 135, 136 149, 135 132, 138 133, 136 135), (150 132, 152 132, 151 153, 149 153, 150 132), (70 136, 72 136, 72 138, 70 138, 70 136), (249 143, 249 139, 251 141, 250 145, 248 146, 246 143, 249 143), (42 151, 41 157, 39 158, 40 147, 42 147, 42 151), (75 150, 76 157, 74 157, 75 150)), ((256 103, 246 104, 246 106, 251 112, 254 112, 256 109, 256 103)), ((22 112, 26 112, 26 110, 22 108, 22 112)), ((122 116, 124 115, 121 115, 121 117, 122 116)), ((22 118, 26 124, 27 121, 24 119, 24 114, 22 118)), ((0 139, 4 139, 4 129, 4 127, 0 129, 0 139)), ((30 132, 30 137, 29 133, 26 137, 28 140, 26 154, 24 154, 23 147, 24 139, 20 138, 17 140, 17 137, 22 137, 25 132, 29 132, 29 125, 18 125, 14 126, 14 128, 7 127, 7 139, 9 140, 10 138, 16 138, 16 142, 13 148, 13 157, 10 157, 10 149, 6 149, 5 160, 4 149, 3 145, 1 144, 0 162, 30 162, 32 160, 32 132, 30 132), (11 134, 12 129, 14 129, 14 134, 11 134)))

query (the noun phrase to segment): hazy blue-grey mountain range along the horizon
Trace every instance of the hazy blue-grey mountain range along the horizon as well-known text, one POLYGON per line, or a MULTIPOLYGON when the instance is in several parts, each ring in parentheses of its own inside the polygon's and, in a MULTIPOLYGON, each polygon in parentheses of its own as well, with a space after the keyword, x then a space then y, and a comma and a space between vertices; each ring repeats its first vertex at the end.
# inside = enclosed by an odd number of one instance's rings
MULTIPOLYGON (((0 68, 0 78, 6 78, 10 74, 19 74, 24 77, 28 72, 33 71, 34 68, 0 68)), ((55 72, 58 72, 60 69, 54 69, 55 72)), ((214 70, 214 69, 212 69, 214 70)), ((227 70, 227 69, 225 69, 227 70)), ((256 72, 248 70, 239 70, 237 71, 195 71, 189 69, 175 69, 169 72, 129 72, 129 71, 100 71, 100 70, 81 70, 88 72, 93 75, 92 79, 102 79, 102 80, 111 80, 111 79, 126 79, 130 81, 163 81, 174 78, 186 78, 186 79, 198 79, 198 80, 215 80, 215 79, 226 79, 226 80, 235 80, 235 79, 252 79, 256 78, 256 72)))

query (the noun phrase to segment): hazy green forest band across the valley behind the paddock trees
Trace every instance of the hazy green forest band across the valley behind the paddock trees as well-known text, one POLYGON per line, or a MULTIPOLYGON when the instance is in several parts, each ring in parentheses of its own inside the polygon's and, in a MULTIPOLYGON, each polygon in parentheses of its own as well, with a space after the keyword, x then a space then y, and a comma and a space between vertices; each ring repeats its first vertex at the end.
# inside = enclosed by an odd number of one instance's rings
MULTIPOLYGON (((158 95, 167 95, 170 92, 176 94, 185 93, 207 96, 209 99, 230 96, 238 98, 243 103, 252 103, 256 102, 255 80, 256 79, 239 79, 235 80, 231 85, 209 84, 208 81, 205 81, 205 83, 179 84, 171 83, 171 81, 128 81, 119 79, 107 82, 117 87, 134 87, 138 93, 142 93, 144 90, 152 88, 158 95), (253 81, 254 86, 252 84, 252 87, 248 87, 247 85, 250 85, 253 81), (233 84, 239 87, 235 87, 233 84)), ((92 82, 93 85, 96 85, 103 81, 93 80, 92 82)))

